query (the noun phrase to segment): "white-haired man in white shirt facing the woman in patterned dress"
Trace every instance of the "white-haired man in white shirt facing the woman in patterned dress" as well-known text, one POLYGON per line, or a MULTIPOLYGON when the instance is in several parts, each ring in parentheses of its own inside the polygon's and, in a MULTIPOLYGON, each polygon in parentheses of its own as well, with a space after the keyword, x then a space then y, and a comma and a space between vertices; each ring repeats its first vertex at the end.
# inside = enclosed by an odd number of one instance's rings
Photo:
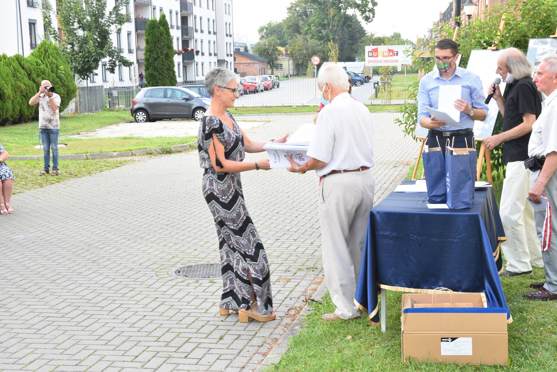
POLYGON ((373 207, 373 121, 364 105, 348 94, 346 72, 324 63, 317 85, 325 107, 316 122, 307 163, 292 164, 290 172, 315 170, 319 182, 319 219, 325 280, 336 305, 326 321, 360 315, 354 304, 356 281, 373 207))

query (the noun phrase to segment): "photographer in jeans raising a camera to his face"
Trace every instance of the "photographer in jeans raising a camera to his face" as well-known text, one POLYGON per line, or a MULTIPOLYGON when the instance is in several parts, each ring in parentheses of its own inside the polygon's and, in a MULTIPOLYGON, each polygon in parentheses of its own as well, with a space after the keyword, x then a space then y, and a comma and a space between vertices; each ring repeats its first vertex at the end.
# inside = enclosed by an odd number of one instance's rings
POLYGON ((50 81, 43 80, 36 95, 29 104, 38 103, 38 131, 41 134, 42 151, 45 157, 45 168, 40 175, 48 174, 50 168, 50 150, 52 150, 52 175, 58 175, 58 134, 60 133, 60 96, 54 92, 50 81))

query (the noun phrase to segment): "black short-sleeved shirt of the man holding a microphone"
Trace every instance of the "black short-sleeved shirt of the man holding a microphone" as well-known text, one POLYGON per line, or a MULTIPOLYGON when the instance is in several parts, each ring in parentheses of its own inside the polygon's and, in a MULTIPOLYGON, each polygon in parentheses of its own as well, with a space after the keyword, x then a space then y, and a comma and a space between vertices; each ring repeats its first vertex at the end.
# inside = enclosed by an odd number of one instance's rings
MULTIPOLYGON (((541 94, 531 77, 523 77, 512 84, 507 84, 505 97, 505 116, 503 130, 515 128, 524 121, 522 114, 534 114, 536 119, 541 113, 541 94)), ((528 141, 530 133, 522 137, 505 141, 503 144, 503 164, 511 161, 528 159, 528 141)))

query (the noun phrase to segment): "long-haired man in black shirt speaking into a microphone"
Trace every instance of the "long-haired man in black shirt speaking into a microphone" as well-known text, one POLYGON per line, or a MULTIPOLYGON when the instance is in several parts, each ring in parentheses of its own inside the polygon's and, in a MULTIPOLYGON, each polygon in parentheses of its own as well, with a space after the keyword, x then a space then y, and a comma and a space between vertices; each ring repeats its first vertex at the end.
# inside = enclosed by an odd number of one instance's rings
POLYGON ((505 97, 498 85, 488 89, 503 116, 503 131, 486 138, 484 143, 490 150, 503 143, 502 161, 507 168, 500 212, 507 240, 501 244, 501 249, 507 267, 501 276, 518 276, 531 273, 532 266, 544 266, 534 210, 526 202, 531 172, 524 168, 524 160, 529 158, 532 125, 541 113, 541 94, 532 82, 531 63, 517 48, 507 48, 501 53, 495 72, 507 83, 505 97))

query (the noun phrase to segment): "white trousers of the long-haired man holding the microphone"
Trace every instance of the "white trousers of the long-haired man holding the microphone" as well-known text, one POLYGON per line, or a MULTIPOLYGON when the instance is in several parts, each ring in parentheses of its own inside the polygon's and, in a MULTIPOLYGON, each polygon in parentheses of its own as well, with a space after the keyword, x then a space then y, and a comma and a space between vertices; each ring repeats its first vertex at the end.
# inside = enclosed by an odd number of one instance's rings
POLYGON ((534 209, 526 200, 530 173, 524 168, 524 161, 512 161, 507 164, 503 181, 500 212, 507 240, 501 248, 507 260, 507 270, 511 272, 530 271, 532 266, 544 267, 534 209))

